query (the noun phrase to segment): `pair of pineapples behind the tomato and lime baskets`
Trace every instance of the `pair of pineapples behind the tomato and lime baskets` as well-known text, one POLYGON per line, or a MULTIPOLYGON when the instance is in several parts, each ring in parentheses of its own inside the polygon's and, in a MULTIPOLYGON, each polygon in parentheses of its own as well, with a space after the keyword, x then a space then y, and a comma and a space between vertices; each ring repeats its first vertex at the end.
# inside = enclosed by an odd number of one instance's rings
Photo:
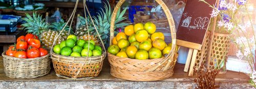
MULTIPOLYGON (((32 33, 39 37, 42 45, 46 48, 52 47, 54 39, 57 38, 62 28, 66 25, 63 19, 61 19, 59 23, 48 24, 45 19, 42 19, 42 15, 36 13, 33 13, 33 16, 26 14, 24 20, 27 21, 27 23, 22 26, 25 27, 27 33, 32 33)), ((69 26, 67 26, 57 38, 56 43, 67 39, 68 35, 73 33, 72 29, 69 32, 69 26)))

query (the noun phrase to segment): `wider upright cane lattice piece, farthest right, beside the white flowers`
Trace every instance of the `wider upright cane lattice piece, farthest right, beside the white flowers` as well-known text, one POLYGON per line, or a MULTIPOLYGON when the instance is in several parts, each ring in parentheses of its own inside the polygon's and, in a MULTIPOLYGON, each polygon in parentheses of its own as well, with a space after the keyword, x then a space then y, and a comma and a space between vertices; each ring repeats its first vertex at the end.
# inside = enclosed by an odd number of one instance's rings
POLYGON ((226 60, 228 56, 228 48, 230 46, 230 37, 228 34, 215 33, 214 41, 212 43, 211 58, 210 61, 217 65, 222 59, 225 59, 223 68, 226 68, 226 60))

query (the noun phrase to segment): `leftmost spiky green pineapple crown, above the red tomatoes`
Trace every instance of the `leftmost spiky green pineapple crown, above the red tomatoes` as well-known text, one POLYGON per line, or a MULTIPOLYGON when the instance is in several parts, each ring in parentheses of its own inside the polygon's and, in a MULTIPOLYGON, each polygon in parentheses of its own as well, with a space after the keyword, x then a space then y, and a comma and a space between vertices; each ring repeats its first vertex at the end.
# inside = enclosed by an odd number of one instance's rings
POLYGON ((40 33, 48 31, 50 25, 45 23, 45 19, 42 19, 42 15, 36 14, 33 12, 33 17, 26 13, 27 18, 23 18, 27 23, 22 24, 27 30, 27 33, 32 33, 36 36, 39 36, 40 33))

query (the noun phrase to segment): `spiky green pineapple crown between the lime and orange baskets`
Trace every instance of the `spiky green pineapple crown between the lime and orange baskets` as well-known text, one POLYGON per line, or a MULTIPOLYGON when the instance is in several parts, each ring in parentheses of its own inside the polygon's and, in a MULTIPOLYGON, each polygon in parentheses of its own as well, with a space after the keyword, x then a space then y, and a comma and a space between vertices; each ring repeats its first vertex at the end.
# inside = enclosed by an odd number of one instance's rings
MULTIPOLYGON (((116 28, 120 28, 120 27, 125 27, 130 25, 131 23, 129 21, 123 21, 124 19, 126 19, 126 17, 124 17, 124 13, 126 12, 126 8, 123 11, 120 11, 120 9, 118 10, 117 14, 116 14, 116 20, 115 20, 115 27, 116 28)), ((104 3, 104 10, 101 8, 100 13, 98 13, 97 16, 93 17, 93 21, 95 23, 95 27, 98 30, 100 37, 102 40, 106 40, 108 39, 109 35, 110 35, 110 22, 111 22, 111 16, 112 16, 113 10, 109 4, 109 2, 106 4, 104 3)), ((90 33, 93 33, 93 35, 97 36, 97 32, 94 28, 94 26, 92 25, 90 18, 88 17, 87 19, 84 17, 79 17, 80 18, 80 25, 86 25, 86 20, 87 22, 90 22, 88 24, 88 29, 90 33)), ((115 34, 117 34, 117 32, 115 32, 115 34)), ((105 43, 106 41, 104 41, 105 43)))

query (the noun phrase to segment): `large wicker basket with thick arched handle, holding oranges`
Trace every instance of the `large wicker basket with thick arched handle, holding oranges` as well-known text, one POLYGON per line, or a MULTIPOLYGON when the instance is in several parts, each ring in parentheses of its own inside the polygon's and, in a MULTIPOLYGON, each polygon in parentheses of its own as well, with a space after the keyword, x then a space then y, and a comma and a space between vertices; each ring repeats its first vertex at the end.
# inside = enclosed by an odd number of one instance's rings
MULTIPOLYGON (((113 11, 110 29, 110 44, 114 37, 114 18, 116 18, 116 12, 124 1, 125 0, 120 0, 113 11)), ((156 2, 161 5, 165 11, 169 22, 170 32, 172 33, 173 38, 172 51, 170 51, 166 57, 147 60, 121 58, 108 53, 112 76, 131 81, 157 81, 169 78, 173 75, 174 65, 177 60, 174 20, 164 2, 161 0, 156 0, 156 2)))

